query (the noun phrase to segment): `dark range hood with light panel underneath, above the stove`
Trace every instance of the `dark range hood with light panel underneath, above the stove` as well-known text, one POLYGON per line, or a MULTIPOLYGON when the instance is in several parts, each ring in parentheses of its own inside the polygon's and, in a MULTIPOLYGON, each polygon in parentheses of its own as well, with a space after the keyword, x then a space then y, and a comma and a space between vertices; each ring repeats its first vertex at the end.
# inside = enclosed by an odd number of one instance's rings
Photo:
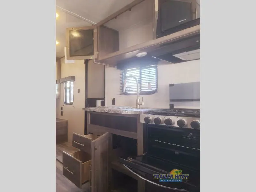
POLYGON ((170 63, 200 59, 200 34, 163 44, 150 53, 154 58, 170 63))

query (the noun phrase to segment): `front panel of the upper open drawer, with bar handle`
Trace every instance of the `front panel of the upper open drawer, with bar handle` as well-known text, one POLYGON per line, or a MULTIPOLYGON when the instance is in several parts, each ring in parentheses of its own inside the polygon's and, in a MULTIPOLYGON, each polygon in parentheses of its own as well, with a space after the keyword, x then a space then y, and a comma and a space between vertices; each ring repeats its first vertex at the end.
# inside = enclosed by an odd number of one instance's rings
POLYGON ((92 139, 73 133, 72 145, 86 153, 91 154, 92 139))

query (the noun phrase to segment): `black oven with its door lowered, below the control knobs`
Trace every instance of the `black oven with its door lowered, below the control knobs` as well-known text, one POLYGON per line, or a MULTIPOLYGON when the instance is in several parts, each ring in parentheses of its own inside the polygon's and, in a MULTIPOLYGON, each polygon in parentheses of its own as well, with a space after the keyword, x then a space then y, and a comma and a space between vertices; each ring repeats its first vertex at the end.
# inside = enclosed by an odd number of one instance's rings
POLYGON ((200 191, 200 129, 144 123, 142 156, 119 158, 132 174, 145 180, 146 192, 200 191), (161 182, 153 175, 182 170, 188 180, 161 182))

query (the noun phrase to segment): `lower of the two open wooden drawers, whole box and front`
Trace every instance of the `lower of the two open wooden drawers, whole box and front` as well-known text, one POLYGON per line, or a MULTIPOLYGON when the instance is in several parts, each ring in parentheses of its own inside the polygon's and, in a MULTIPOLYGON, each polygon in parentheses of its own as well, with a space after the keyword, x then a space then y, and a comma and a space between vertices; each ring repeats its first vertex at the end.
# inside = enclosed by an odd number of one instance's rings
POLYGON ((91 155, 84 151, 68 154, 63 151, 63 175, 77 187, 90 180, 91 155))

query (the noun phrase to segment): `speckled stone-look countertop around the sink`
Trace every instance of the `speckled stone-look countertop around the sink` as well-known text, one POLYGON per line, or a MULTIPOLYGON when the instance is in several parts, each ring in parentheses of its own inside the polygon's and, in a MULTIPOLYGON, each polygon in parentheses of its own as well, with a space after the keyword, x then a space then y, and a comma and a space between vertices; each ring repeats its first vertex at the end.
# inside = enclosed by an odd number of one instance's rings
POLYGON ((102 113, 119 113, 119 114, 145 114, 147 111, 158 110, 163 108, 135 108, 127 106, 105 106, 105 107, 86 107, 82 110, 84 111, 94 111, 102 113))

